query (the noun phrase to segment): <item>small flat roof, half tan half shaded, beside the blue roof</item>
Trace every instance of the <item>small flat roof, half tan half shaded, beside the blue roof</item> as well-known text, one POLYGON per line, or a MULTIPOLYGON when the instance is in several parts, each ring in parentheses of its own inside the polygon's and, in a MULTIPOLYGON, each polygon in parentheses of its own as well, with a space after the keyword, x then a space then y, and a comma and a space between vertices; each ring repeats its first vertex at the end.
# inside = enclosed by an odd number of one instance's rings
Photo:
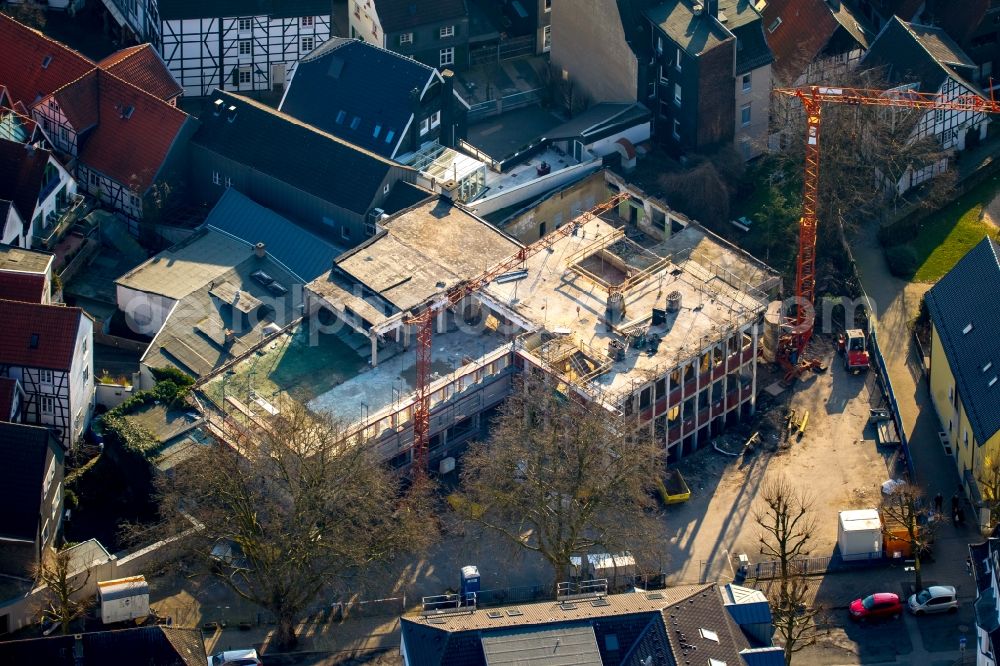
POLYGON ((115 281, 129 289, 180 300, 253 255, 252 246, 203 228, 115 281))

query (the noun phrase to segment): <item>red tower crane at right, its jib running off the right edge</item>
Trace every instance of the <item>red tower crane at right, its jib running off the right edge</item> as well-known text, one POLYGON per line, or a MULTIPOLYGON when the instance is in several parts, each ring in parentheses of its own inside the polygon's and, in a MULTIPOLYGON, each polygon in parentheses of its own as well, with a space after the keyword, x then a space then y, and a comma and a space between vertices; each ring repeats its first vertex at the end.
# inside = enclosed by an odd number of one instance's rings
POLYGON ((997 113, 1000 104, 978 95, 946 97, 937 93, 922 93, 897 88, 873 90, 869 88, 837 88, 831 86, 805 86, 801 88, 775 88, 774 94, 797 97, 806 112, 805 170, 802 179, 802 217, 799 220, 799 254, 795 271, 795 314, 791 318, 791 333, 785 337, 782 363, 793 371, 794 361, 802 367, 802 354, 813 333, 812 308, 816 302, 816 229, 820 167, 820 129, 824 104, 871 105, 905 109, 968 111, 971 113, 997 113))

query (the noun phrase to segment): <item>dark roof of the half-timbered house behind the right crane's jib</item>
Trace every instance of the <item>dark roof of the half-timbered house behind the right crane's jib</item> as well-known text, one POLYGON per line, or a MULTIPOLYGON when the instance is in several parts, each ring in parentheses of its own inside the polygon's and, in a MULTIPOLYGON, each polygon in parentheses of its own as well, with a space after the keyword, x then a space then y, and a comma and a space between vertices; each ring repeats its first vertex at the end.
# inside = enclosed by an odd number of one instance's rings
POLYGON ((919 83, 921 92, 937 92, 951 77, 982 94, 967 80, 974 64, 951 37, 940 28, 905 23, 896 17, 872 42, 861 67, 883 68, 891 83, 919 83))

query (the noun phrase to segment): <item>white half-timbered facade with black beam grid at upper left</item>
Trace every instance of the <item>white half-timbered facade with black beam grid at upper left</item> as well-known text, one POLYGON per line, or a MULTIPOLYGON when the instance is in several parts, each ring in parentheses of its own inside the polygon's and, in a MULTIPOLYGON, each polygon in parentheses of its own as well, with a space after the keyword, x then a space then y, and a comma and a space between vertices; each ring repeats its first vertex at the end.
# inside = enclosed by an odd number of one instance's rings
POLYGON ((288 69, 330 38, 330 15, 163 22, 161 54, 184 94, 281 89, 288 69))

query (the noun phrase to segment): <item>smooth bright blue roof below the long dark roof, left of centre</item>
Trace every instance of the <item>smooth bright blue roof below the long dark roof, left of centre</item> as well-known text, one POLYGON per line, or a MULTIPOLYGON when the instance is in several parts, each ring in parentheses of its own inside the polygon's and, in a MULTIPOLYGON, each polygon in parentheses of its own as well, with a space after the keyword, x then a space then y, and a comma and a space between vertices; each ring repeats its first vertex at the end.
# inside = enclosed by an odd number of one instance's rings
POLYGON ((222 195, 205 224, 251 245, 264 243, 268 254, 306 282, 330 270, 343 252, 233 188, 222 195))

